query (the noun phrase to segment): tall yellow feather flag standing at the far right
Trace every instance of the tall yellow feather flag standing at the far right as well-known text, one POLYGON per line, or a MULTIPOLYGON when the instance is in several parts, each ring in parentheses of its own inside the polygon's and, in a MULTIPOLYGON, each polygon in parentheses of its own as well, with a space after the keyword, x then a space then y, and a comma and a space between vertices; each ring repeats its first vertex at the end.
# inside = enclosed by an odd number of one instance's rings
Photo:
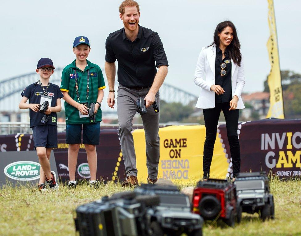
POLYGON ((270 88, 270 108, 266 118, 274 117, 274 118, 284 119, 283 96, 282 96, 282 86, 281 86, 274 2, 273 0, 268 0, 268 3, 269 3, 268 20, 269 20, 269 27, 270 27, 270 38, 266 46, 269 52, 271 71, 268 76, 268 85, 270 88))

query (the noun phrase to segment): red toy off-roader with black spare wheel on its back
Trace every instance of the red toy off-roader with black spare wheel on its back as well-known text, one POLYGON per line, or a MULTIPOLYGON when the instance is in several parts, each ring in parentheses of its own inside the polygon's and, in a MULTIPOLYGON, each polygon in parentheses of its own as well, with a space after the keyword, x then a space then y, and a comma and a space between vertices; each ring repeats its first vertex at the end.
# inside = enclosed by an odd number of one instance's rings
POLYGON ((193 192, 192 211, 204 219, 222 219, 233 227, 235 217, 241 222, 241 206, 237 202, 235 185, 227 180, 199 181, 193 192))

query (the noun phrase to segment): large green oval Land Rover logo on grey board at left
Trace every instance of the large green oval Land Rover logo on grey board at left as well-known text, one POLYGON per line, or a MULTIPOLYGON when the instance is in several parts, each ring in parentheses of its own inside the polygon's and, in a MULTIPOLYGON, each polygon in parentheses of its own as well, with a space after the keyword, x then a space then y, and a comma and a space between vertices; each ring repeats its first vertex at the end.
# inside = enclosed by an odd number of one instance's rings
POLYGON ((40 166, 34 161, 16 161, 4 168, 4 174, 13 180, 37 180, 40 177, 40 166))

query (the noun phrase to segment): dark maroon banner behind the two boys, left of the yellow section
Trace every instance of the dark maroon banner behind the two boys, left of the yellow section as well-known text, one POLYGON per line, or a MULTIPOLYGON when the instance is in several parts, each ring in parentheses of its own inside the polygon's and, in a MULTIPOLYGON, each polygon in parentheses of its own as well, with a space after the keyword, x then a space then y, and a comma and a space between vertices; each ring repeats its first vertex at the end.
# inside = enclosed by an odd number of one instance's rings
MULTIPOLYGON (((66 144, 65 136, 65 133, 58 133, 58 148, 53 149, 58 176, 62 181, 69 180, 68 144, 66 144)), ((0 135, 0 162, 2 162, 2 154, 5 151, 18 151, 23 153, 23 151, 31 150, 34 150, 31 134, 0 135)), ((96 152, 97 179, 107 181, 117 180, 119 178, 123 180, 124 164, 120 150, 117 128, 101 127, 100 144, 96 146, 96 152)), ((39 159, 36 154, 35 161, 39 163, 39 159)), ((80 145, 78 153, 76 178, 90 178, 84 144, 80 145)))

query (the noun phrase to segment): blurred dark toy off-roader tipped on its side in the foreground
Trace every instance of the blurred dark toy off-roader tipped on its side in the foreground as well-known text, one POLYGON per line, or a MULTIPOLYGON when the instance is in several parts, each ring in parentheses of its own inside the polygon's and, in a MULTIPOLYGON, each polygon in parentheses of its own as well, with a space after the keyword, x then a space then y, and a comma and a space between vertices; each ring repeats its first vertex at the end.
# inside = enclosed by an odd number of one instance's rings
POLYGON ((156 195, 136 196, 134 192, 102 197, 76 208, 76 231, 81 236, 154 235, 146 212, 159 201, 156 195))

